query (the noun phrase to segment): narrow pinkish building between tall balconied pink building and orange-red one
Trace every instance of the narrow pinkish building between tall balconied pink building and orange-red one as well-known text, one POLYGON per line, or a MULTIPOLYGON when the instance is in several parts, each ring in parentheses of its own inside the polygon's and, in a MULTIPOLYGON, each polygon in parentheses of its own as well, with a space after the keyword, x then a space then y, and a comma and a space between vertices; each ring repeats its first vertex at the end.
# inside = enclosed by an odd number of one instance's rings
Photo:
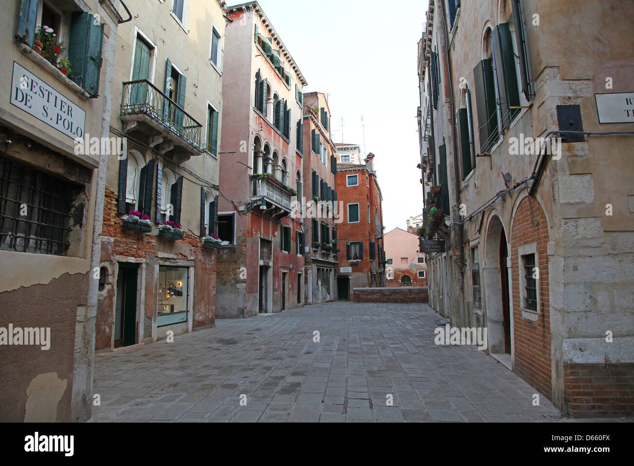
POLYGON ((330 107, 323 93, 304 94, 303 179, 305 304, 334 301, 337 277, 337 221, 340 209, 335 191, 337 160, 330 141, 330 107))

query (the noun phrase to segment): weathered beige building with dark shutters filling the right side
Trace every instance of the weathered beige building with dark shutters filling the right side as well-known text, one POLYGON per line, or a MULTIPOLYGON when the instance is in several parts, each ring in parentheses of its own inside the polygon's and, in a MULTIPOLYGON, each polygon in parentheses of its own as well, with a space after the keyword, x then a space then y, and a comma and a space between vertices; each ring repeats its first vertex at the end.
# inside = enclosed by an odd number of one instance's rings
POLYGON ((430 0, 418 49, 430 304, 571 415, 631 413, 630 22, 459 4, 430 0))

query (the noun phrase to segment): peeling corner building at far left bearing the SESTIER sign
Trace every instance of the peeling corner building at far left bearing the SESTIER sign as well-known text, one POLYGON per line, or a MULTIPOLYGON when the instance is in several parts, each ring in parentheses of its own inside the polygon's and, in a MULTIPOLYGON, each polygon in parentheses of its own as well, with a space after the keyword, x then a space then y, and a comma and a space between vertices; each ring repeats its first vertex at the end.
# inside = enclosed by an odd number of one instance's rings
POLYGON ((100 153, 123 18, 110 1, 4 6, 0 420, 83 421, 92 405, 100 153))

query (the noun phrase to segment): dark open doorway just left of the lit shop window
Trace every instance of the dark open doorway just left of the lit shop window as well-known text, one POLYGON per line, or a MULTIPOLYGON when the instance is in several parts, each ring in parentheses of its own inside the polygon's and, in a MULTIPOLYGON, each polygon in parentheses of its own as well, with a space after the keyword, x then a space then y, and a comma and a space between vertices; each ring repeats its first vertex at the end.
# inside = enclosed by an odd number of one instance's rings
POLYGON ((115 304, 114 347, 136 343, 136 281, 138 268, 120 263, 117 275, 117 302, 115 304))

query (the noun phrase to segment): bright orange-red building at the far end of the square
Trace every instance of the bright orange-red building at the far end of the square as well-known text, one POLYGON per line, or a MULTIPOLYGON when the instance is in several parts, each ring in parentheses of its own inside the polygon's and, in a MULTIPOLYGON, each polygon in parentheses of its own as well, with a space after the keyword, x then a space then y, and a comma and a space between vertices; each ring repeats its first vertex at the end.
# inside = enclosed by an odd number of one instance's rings
POLYGON ((360 165, 337 164, 337 196, 342 205, 337 228, 339 299, 352 299, 354 288, 385 286, 383 197, 374 157, 369 153, 360 165))

